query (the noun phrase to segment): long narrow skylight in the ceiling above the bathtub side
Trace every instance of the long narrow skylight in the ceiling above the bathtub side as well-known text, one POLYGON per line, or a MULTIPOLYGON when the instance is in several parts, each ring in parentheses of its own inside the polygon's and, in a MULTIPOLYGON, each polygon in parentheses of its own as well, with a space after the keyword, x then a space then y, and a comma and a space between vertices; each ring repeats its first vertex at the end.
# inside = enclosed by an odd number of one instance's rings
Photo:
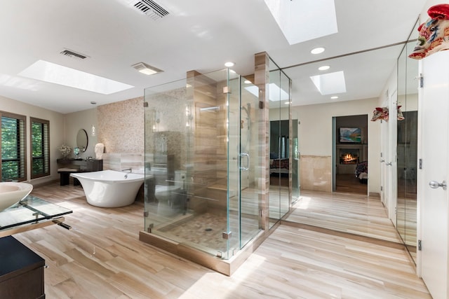
POLYGON ((19 76, 65 85, 71 88, 98 92, 103 95, 110 95, 114 92, 120 92, 134 87, 133 85, 110 80, 69 67, 63 67, 62 65, 46 62, 44 60, 34 62, 34 64, 21 71, 19 76))

